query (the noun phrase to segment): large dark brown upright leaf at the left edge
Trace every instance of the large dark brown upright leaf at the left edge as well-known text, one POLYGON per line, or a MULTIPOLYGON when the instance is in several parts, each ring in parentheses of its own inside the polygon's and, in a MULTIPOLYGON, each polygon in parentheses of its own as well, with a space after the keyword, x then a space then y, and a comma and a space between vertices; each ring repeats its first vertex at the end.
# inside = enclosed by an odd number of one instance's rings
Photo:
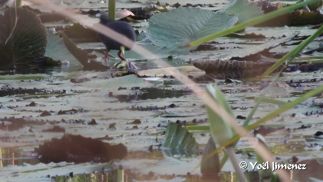
POLYGON ((0 67, 2 69, 28 68, 44 64, 47 31, 36 14, 17 8, 0 14, 0 67), (12 33, 12 34, 11 34, 12 33))

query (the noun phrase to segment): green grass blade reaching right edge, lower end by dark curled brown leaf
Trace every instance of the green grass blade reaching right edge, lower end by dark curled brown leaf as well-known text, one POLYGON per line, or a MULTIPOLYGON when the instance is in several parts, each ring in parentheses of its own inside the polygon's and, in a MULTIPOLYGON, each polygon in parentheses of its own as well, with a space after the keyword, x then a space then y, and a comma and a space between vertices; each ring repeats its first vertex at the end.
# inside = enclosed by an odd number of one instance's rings
POLYGON ((302 43, 298 44, 295 48, 292 49, 289 53, 287 53, 283 58, 281 58, 279 61, 277 61, 272 67, 267 69, 260 78, 263 78, 273 72, 275 69, 277 69, 281 64, 283 64, 287 60, 292 60, 295 58, 298 53, 300 53, 306 45, 308 45, 310 42, 312 42, 318 35, 320 35, 323 32, 323 26, 321 26, 315 33, 313 33, 311 36, 306 38, 302 43))

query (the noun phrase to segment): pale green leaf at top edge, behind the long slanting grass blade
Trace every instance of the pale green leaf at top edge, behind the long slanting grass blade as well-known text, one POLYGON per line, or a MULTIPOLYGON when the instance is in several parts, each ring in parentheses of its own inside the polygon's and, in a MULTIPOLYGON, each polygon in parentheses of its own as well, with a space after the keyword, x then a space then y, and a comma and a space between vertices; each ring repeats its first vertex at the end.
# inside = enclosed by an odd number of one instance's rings
POLYGON ((246 0, 231 1, 219 11, 224 12, 228 15, 236 15, 240 23, 263 15, 263 12, 259 7, 246 0))

